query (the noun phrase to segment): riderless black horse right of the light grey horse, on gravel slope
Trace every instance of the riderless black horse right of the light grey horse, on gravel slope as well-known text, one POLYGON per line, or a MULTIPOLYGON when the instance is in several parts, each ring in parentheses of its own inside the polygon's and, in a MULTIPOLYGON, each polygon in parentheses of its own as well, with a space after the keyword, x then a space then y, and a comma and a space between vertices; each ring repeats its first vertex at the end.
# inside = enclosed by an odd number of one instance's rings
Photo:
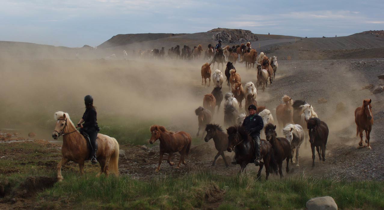
POLYGON ((319 154, 319 159, 321 157, 325 161, 325 149, 328 141, 328 125, 321 121, 319 118, 310 118, 307 121, 307 129, 310 135, 310 143, 312 150, 312 167, 314 167, 314 148, 316 147, 317 153, 319 154), (320 157, 321 154, 321 157, 320 157))

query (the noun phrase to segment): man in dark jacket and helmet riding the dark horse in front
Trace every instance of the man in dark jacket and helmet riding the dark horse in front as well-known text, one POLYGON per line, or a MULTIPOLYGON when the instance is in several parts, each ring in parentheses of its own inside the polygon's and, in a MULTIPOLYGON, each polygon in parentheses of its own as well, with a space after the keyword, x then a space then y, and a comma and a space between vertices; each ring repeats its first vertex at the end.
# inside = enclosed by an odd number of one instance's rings
POLYGON ((255 141, 255 165, 260 163, 260 131, 264 128, 263 118, 256 113, 257 108, 251 104, 248 107, 249 115, 243 121, 243 127, 255 141))

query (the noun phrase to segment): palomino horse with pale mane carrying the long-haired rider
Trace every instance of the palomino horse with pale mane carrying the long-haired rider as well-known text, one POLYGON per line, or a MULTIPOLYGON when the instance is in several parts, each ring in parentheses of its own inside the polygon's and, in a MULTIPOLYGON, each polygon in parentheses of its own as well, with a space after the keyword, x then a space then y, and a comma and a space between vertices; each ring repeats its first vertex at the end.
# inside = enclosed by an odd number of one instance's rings
MULTIPOLYGON (((61 167, 69 161, 77 162, 80 174, 83 175, 84 161, 89 159, 91 151, 88 149, 87 140, 76 130, 68 113, 56 112, 54 116, 56 126, 52 137, 58 139, 60 136, 63 136, 62 158, 59 164, 57 164, 57 179, 60 182, 64 179, 61 175, 61 167)), ((100 172, 96 176, 104 173, 108 177, 108 169, 116 176, 119 176, 119 143, 115 138, 100 133, 97 135, 96 143, 98 144, 96 157, 101 167, 100 172)))

